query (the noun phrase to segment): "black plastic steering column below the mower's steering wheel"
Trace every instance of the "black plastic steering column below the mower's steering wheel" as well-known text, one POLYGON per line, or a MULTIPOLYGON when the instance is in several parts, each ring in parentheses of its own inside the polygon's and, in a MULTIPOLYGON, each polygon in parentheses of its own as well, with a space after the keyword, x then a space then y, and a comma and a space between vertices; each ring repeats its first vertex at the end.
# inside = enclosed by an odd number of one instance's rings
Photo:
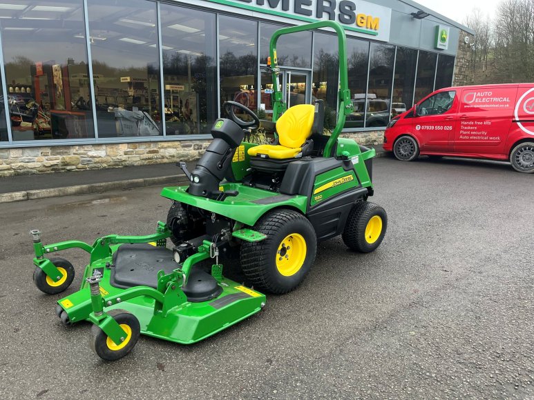
POLYGON ((233 152, 245 138, 245 132, 237 123, 220 118, 211 128, 213 141, 191 173, 189 194, 216 198, 219 183, 225 178, 231 165, 233 152))

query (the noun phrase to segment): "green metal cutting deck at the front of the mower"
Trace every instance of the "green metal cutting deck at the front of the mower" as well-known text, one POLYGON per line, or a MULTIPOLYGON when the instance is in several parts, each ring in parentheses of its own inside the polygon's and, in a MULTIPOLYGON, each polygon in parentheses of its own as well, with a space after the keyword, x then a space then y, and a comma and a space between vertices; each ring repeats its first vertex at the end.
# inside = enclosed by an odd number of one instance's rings
MULTIPOLYGON (((125 246, 127 252, 131 252, 131 245, 125 246)), ((149 246, 149 245, 146 245, 149 246)), ((120 246, 115 246, 114 254, 120 246)), ((138 263, 131 263, 132 269, 144 266, 145 270, 151 270, 154 276, 158 273, 158 264, 162 257, 159 254, 164 248, 153 248, 156 256, 152 262, 145 257, 138 263), (160 257, 157 257, 160 256, 160 257), (156 267, 155 267, 156 266, 156 267)), ((170 250, 167 250, 170 251, 170 250)), ((172 254, 172 253, 171 253, 172 254)), ((128 255, 126 254, 126 257, 128 255)), ((259 312, 265 306, 265 295, 256 290, 251 290, 239 283, 222 277, 222 274, 215 274, 218 286, 222 288, 220 294, 209 301, 184 301, 168 312, 158 310, 155 299, 149 296, 140 295, 120 301, 120 297, 132 290, 140 291, 144 288, 147 292, 155 291, 149 286, 135 286, 131 288, 117 288, 111 284, 112 274, 115 272, 112 267, 113 257, 102 259, 86 267, 82 288, 78 292, 70 294, 58 301, 59 306, 68 314, 69 321, 75 323, 82 320, 90 321, 89 315, 93 311, 91 306, 90 290, 86 277, 101 275, 99 282, 100 294, 104 302, 107 299, 117 298, 113 301, 113 306, 108 306, 104 310, 109 312, 113 309, 122 309, 135 314, 139 320, 141 333, 158 339, 173 341, 181 344, 191 344, 201 341, 212 334, 238 323, 243 319, 259 312), (106 266, 107 264, 107 266, 106 266)), ((163 269, 163 268, 162 268, 163 269)), ((191 279, 196 279, 196 268, 191 271, 191 279)), ((200 270, 198 271, 200 272, 200 270)), ((202 272, 200 272, 202 273, 202 272)), ((155 279, 157 281, 157 279, 155 279)), ((132 282, 133 283, 133 282, 132 282)), ((169 295, 168 293, 166 295, 169 295)), ((178 296, 178 292, 176 294, 178 296)), ((163 294, 162 294, 163 296, 163 294)))

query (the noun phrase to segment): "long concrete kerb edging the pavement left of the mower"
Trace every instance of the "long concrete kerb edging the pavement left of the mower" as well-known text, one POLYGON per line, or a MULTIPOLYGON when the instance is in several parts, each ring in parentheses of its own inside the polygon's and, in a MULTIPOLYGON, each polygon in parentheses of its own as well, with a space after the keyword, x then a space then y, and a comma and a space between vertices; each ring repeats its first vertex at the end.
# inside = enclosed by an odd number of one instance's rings
POLYGON ((179 185, 187 183, 183 176, 166 176, 143 179, 130 179, 128 181, 115 181, 103 183, 91 183, 89 185, 66 186, 64 188, 50 188, 28 190, 26 192, 11 192, 0 194, 0 203, 12 203, 14 201, 47 199, 50 197, 72 196, 73 194, 90 194, 111 192, 112 190, 124 190, 142 188, 144 186, 179 185))

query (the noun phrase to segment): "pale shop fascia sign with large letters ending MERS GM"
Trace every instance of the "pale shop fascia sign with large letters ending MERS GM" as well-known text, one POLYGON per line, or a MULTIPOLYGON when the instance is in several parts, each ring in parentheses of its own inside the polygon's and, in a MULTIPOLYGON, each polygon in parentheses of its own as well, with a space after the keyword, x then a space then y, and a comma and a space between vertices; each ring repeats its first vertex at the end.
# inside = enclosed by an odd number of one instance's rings
POLYGON ((359 0, 206 0, 305 22, 338 21, 347 34, 389 41, 391 8, 359 0))

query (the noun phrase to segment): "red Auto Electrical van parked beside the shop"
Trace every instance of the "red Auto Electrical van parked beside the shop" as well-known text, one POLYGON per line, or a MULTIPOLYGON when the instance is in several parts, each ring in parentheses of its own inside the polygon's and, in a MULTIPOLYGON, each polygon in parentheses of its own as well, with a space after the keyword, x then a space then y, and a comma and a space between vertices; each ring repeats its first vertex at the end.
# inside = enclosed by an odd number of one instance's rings
POLYGON ((384 150, 401 161, 419 154, 508 160, 534 172, 534 83, 436 90, 390 121, 384 150))

